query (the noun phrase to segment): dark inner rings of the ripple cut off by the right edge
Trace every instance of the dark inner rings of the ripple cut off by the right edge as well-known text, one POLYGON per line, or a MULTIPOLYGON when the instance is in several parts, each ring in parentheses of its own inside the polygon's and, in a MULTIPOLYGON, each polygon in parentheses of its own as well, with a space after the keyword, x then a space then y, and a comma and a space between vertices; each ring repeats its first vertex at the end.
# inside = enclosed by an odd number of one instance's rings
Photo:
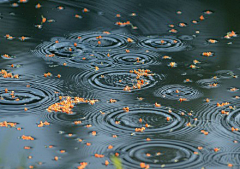
POLYGON ((236 109, 230 112, 228 116, 224 116, 221 121, 224 128, 226 128, 231 134, 236 133, 240 135, 239 131, 232 132, 232 127, 240 129, 240 109, 236 109))

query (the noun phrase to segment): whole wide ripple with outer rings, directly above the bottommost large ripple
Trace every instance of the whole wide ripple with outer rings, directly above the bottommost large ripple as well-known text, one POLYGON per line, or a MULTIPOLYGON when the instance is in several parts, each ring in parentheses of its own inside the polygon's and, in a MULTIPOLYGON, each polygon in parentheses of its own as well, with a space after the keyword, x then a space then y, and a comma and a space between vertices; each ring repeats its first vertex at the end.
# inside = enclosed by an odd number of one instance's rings
MULTIPOLYGON (((176 134, 188 132, 186 124, 191 121, 167 107, 155 108, 151 106, 129 107, 129 112, 122 108, 102 110, 105 114, 90 114, 87 119, 103 132, 126 134, 176 134), (182 129, 185 129, 184 131, 182 129)), ((194 125, 194 122, 191 121, 194 125)), ((190 128, 189 128, 190 129, 190 128)))

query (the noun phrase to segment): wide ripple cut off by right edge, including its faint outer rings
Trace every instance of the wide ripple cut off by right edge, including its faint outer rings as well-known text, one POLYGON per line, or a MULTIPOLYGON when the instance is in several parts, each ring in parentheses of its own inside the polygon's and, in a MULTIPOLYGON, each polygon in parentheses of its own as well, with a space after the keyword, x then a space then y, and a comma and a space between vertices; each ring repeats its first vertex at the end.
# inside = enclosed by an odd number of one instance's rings
MULTIPOLYGON (((239 109, 232 110, 229 106, 235 106, 235 104, 229 102, 229 104, 223 105, 227 101, 211 100, 208 103, 200 104, 198 110, 196 111, 196 117, 199 119, 200 124, 206 131, 211 133, 213 136, 224 138, 228 140, 239 139, 239 131, 233 131, 232 127, 239 128, 240 123, 238 120, 239 109), (220 104, 221 106, 217 106, 220 104), (226 113, 229 113, 227 115, 226 113)), ((195 106, 196 107, 196 106, 195 106)), ((231 147, 229 145, 229 147, 231 147)))

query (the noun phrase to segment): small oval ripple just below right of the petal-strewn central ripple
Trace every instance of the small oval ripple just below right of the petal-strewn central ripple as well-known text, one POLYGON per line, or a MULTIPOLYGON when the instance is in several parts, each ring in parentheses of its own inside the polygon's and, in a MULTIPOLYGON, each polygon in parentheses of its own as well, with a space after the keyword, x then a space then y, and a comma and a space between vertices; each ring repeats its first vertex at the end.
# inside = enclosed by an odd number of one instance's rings
POLYGON ((202 96, 202 94, 194 88, 177 84, 163 86, 156 90, 154 95, 170 100, 179 100, 179 98, 193 100, 202 96))

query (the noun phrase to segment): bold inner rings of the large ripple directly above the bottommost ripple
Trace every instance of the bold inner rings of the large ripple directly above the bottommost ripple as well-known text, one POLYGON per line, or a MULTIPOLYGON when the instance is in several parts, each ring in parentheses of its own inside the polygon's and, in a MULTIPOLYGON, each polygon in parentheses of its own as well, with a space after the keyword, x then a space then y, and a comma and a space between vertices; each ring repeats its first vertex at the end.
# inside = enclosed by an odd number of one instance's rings
POLYGON ((93 124, 98 128, 117 131, 117 133, 132 133, 135 132, 135 128, 145 127, 148 124, 149 127, 146 127, 143 133, 166 133, 182 127, 184 120, 181 119, 178 114, 169 113, 166 108, 130 108, 129 112, 116 109, 106 112, 105 115, 98 114, 93 119, 93 124), (167 117, 170 117, 171 120, 167 121, 167 117), (139 122, 140 118, 142 122, 139 122))

